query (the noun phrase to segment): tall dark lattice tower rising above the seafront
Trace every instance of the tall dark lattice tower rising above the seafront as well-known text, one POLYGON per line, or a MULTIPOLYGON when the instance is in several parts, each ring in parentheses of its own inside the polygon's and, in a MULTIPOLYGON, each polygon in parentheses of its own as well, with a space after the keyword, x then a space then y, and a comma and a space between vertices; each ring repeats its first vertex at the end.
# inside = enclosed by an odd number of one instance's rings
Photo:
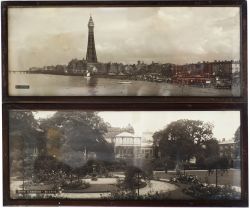
POLYGON ((96 51, 95 51, 95 38, 94 38, 94 22, 92 17, 89 18, 89 36, 88 36, 88 48, 86 54, 86 60, 88 63, 97 63, 96 51))

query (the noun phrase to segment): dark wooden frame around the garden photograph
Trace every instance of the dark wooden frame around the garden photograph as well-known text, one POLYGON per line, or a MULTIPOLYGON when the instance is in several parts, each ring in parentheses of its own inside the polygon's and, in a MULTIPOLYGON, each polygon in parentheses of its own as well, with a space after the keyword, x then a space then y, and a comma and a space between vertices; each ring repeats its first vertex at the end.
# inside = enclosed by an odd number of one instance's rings
POLYGON ((245 104, 6 104, 3 108, 3 164, 5 205, 77 205, 77 206, 247 206, 248 150, 247 107, 245 104), (77 200, 77 199, 11 199, 9 166, 10 110, 96 110, 96 111, 240 111, 241 129, 241 199, 239 200, 77 200))

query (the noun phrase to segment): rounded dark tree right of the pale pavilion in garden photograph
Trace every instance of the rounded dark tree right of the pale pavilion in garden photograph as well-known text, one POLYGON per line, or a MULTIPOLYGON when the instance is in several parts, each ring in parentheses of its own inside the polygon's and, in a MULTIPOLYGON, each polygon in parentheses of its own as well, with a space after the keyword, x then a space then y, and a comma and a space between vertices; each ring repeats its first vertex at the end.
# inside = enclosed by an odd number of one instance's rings
POLYGON ((156 132, 153 138, 163 158, 184 162, 205 153, 211 145, 208 141, 213 140, 212 129, 210 123, 181 119, 156 132))

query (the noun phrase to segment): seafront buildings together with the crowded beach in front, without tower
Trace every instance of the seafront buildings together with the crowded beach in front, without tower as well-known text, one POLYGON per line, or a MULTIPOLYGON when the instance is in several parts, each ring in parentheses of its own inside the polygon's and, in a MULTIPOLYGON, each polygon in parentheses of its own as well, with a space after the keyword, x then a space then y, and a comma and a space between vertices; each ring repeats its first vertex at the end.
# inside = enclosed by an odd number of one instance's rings
POLYGON ((173 82, 177 84, 210 84, 213 80, 232 81, 240 72, 239 61, 212 61, 191 64, 155 63, 137 64, 122 63, 88 63, 86 60, 71 60, 68 65, 32 67, 29 73, 92 75, 108 76, 126 79, 137 79, 158 82, 173 82))

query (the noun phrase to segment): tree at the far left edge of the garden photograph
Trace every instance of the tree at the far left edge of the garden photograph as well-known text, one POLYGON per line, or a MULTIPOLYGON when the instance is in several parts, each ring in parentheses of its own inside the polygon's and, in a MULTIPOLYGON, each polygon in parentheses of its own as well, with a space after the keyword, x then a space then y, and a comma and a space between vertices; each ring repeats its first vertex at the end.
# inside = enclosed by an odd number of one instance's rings
POLYGON ((34 149, 44 149, 44 135, 32 111, 24 110, 10 111, 9 132, 11 174, 23 175, 24 169, 32 169, 34 149))

